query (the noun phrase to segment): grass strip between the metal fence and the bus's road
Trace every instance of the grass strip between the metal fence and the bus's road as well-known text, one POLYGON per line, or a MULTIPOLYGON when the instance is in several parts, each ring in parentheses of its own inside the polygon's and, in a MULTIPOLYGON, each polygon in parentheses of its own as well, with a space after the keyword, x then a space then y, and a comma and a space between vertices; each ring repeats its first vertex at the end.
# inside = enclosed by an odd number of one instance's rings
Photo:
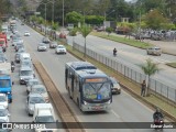
MULTIPOLYGON (((66 45, 66 47, 67 47, 67 51, 69 51, 72 54, 74 54, 75 56, 78 56, 80 59, 84 59, 82 53, 77 52, 76 50, 73 50, 73 47, 69 45, 66 45)), ((121 74, 112 70, 111 68, 106 67, 103 64, 100 64, 95 59, 87 57, 86 61, 92 63, 98 68, 103 70, 106 74, 108 74, 109 76, 116 77, 120 81, 120 84, 125 85, 130 90, 132 90, 133 92, 140 96, 141 87, 139 84, 131 81, 129 78, 123 77, 121 74)), ((150 97, 144 97, 144 98, 140 97, 140 98, 148 101, 150 103, 152 103, 152 106, 157 106, 162 110, 169 113, 172 117, 176 118, 176 107, 167 103, 167 101, 164 101, 154 95, 151 95, 150 97)))

